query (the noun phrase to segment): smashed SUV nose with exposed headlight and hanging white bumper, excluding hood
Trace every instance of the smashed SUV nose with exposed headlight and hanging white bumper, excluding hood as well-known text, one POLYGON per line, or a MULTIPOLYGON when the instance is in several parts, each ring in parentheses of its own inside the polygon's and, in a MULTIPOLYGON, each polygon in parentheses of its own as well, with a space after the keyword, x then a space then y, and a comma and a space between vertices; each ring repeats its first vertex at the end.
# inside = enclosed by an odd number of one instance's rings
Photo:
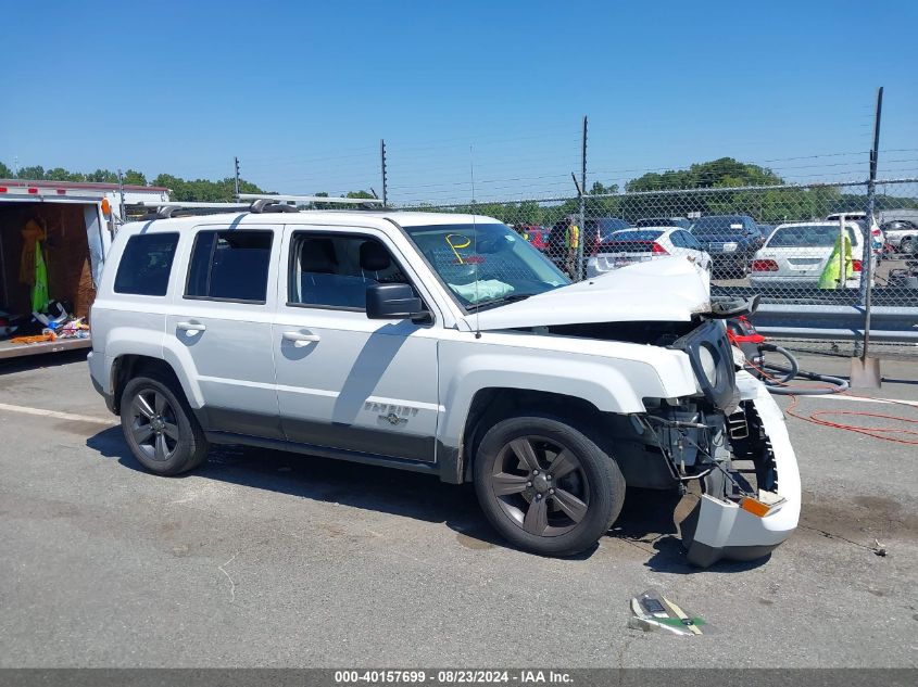
POLYGON ((670 347, 692 361, 702 395, 647 399, 633 416, 682 489, 677 513, 689 562, 753 560, 790 536, 801 485, 783 415, 764 384, 738 369, 719 322, 708 321, 670 347))

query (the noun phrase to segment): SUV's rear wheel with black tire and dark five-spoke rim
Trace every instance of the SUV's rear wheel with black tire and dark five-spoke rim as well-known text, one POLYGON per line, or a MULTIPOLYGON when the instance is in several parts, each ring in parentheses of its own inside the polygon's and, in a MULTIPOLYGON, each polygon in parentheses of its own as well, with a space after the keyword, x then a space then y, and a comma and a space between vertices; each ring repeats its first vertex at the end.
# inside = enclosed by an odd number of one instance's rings
POLYGON ((155 372, 131 379, 122 392, 121 419, 130 453, 150 472, 180 474, 208 459, 204 431, 172 379, 155 372))

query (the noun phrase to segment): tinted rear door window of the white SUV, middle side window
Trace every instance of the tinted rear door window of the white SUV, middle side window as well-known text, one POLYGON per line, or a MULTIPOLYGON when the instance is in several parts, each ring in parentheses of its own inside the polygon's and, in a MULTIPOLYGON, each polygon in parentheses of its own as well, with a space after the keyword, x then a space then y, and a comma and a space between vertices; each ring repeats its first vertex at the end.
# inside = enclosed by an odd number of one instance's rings
POLYGON ((273 231, 199 231, 186 298, 265 303, 273 231))

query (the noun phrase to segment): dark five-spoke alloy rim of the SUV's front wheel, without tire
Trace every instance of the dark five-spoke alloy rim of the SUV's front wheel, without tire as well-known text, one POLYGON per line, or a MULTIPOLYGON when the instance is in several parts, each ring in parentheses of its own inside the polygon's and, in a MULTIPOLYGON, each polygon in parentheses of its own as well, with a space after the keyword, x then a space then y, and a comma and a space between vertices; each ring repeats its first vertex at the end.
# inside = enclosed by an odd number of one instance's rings
POLYGON ((504 514, 535 536, 570 532, 590 507, 580 461, 566 446, 542 436, 520 436, 504 445, 489 478, 504 514))

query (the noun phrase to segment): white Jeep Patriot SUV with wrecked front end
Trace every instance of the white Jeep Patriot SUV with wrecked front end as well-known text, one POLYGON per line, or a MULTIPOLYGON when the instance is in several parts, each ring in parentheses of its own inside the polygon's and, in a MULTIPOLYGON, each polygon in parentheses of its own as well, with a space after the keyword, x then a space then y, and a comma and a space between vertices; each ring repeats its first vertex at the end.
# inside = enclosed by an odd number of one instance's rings
POLYGON ((682 258, 570 284, 490 217, 189 216, 118 232, 89 367, 159 474, 229 443, 471 481, 506 539, 557 556, 608 531, 626 485, 681 489, 708 565, 766 555, 801 499, 722 310, 682 258))

